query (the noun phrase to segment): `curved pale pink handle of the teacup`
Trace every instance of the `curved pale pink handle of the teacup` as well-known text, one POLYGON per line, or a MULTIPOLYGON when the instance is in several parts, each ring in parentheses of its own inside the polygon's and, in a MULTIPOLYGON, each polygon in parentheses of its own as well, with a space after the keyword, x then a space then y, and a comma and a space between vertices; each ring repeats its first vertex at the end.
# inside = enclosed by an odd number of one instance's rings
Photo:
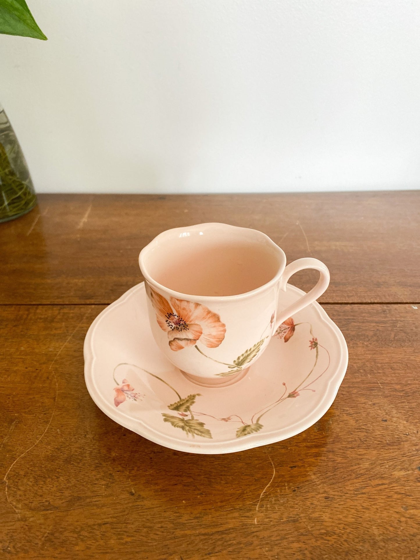
POLYGON ((328 284, 330 283, 330 273, 328 268, 326 268, 325 264, 321 263, 318 259, 305 257, 303 259, 294 260, 292 263, 287 265, 280 279, 280 290, 286 292, 288 279, 295 274, 295 272, 298 272, 298 270, 304 270, 305 268, 314 268, 315 270, 319 270, 319 280, 312 290, 305 293, 305 295, 295 301, 294 304, 281 311, 277 309, 276 330, 283 321, 317 300, 321 295, 323 295, 326 288, 328 288, 328 284))

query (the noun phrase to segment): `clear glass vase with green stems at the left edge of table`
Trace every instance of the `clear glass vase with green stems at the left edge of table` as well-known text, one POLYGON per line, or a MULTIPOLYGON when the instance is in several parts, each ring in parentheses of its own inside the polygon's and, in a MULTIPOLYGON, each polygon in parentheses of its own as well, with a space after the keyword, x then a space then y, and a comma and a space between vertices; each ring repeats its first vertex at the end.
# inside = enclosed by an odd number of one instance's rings
POLYGON ((36 206, 24 154, 0 105, 0 222, 14 220, 36 206))

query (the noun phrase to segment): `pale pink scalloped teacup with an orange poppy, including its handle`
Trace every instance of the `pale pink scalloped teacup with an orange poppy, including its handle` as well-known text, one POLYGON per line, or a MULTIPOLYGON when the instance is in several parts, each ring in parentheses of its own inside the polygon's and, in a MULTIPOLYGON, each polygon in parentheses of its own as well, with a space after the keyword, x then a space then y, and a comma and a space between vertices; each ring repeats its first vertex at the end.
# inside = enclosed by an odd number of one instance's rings
POLYGON ((153 337, 165 356, 204 386, 239 381, 283 321, 321 296, 324 263, 286 255, 260 231, 202 223, 164 231, 139 255, 153 337), (314 268, 315 287, 284 309, 281 291, 314 268))

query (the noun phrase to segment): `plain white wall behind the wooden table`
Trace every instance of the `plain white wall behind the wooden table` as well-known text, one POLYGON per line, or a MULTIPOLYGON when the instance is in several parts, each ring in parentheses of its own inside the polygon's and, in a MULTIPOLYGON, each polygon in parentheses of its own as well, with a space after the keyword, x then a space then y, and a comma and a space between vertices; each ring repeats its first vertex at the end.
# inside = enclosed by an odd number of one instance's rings
POLYGON ((0 100, 39 192, 420 186, 417 0, 28 0, 0 100))

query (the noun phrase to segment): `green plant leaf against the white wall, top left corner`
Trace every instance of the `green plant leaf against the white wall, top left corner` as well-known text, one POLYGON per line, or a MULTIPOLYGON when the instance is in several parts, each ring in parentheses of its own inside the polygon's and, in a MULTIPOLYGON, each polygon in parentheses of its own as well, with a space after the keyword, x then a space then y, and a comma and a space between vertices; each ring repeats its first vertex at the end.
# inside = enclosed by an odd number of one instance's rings
POLYGON ((0 0, 0 33, 46 41, 25 0, 0 0))

